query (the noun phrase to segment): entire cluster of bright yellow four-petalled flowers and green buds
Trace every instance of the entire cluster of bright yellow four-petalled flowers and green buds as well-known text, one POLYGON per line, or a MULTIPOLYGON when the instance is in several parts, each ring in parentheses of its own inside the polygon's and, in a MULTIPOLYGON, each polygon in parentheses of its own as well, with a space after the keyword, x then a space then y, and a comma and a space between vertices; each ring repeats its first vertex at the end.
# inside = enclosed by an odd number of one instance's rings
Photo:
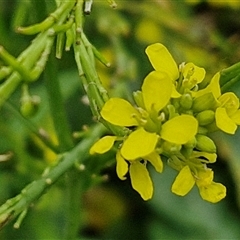
POLYGON ((239 99, 232 92, 221 94, 220 73, 201 88, 205 70, 193 63, 179 67, 160 43, 150 45, 146 54, 154 68, 144 79, 141 91, 134 92, 135 105, 121 98, 110 98, 101 110, 106 121, 128 127, 125 137, 105 136, 90 149, 103 154, 113 145, 116 172, 148 200, 153 184, 147 164, 163 171, 163 160, 179 171, 172 192, 184 196, 196 184, 201 197, 218 202, 226 188, 213 181, 207 164, 216 161, 216 146, 208 133, 222 130, 234 134, 240 125, 239 99))

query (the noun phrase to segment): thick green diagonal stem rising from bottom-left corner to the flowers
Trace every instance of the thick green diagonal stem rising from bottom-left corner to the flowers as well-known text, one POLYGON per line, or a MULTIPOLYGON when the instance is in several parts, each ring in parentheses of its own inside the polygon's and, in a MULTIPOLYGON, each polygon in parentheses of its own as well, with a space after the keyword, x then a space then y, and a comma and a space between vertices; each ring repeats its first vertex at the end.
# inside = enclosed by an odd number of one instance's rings
MULTIPOLYGON (((40 198, 64 173, 77 161, 83 162, 89 156, 92 144, 102 135, 104 128, 96 125, 89 130, 86 138, 71 151, 65 153, 58 165, 45 172, 42 177, 27 185, 19 195, 7 200, 0 206, 0 229, 22 211, 25 211, 34 201, 40 198)), ((79 178, 81 181, 81 179, 79 178)))

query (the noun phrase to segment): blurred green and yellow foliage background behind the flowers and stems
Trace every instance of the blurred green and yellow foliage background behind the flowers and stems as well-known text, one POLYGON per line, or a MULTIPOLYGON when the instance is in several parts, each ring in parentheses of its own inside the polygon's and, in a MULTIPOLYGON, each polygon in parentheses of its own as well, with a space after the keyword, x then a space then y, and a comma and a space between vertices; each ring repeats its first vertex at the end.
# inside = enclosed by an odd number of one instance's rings
MULTIPOLYGON (((204 67, 207 77, 240 60, 239 1, 94 1, 86 16, 84 32, 112 63, 97 63, 99 76, 110 95, 131 98, 152 69, 144 53, 146 46, 161 42, 176 62, 194 62, 204 67), (118 86, 116 88, 116 86, 118 86), (116 91, 117 89, 117 91, 116 91)), ((54 10, 54 1, 0 1, 0 44, 18 56, 34 38, 14 32, 43 20, 54 10), (42 2, 42 3, 40 3, 42 2)), ((65 52, 58 64, 59 81, 72 131, 93 124, 78 78, 73 52, 65 52)), ((0 66, 2 62, 0 61, 0 66)), ((232 90, 240 96, 240 84, 232 90)), ((30 91, 41 98, 31 119, 55 138, 44 86, 44 75, 30 91)), ((18 114, 20 89, 0 111, 0 204, 18 194, 42 171, 53 164, 55 154, 42 146, 18 114)), ((88 159, 94 176, 106 181, 87 191, 82 202, 81 239, 240 239, 240 132, 235 136, 215 134, 219 159, 210 166, 215 179, 227 186, 227 197, 218 204, 203 201, 197 189, 182 198, 171 193, 176 172, 167 166, 162 174, 151 171, 154 197, 144 202, 131 189, 129 179, 116 177, 114 154, 88 159), (99 171, 97 161, 109 162, 99 171)), ((91 175, 92 176, 92 175, 91 175)), ((89 176, 83 176, 89 177, 89 176)), ((63 177, 30 209, 20 229, 12 224, 0 232, 0 239, 62 239, 66 218, 66 188, 63 177)), ((80 179, 81 180, 81 179, 80 179)))

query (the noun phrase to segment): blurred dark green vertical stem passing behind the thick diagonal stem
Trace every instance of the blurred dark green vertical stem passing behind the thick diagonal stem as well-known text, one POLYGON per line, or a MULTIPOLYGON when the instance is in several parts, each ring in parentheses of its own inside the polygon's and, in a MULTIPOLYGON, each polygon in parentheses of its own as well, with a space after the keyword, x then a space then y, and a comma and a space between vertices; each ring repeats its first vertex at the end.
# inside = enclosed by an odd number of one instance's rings
MULTIPOLYGON (((46 67, 45 79, 52 119, 58 136, 59 147, 63 152, 73 147, 73 141, 64 109, 64 102, 57 77, 56 61, 53 58, 53 54, 51 54, 50 62, 46 67)), ((66 191, 68 192, 68 194, 66 194, 66 202, 68 203, 68 206, 66 208, 67 221, 65 226, 65 239, 76 238, 80 223, 79 214, 82 183, 79 181, 79 173, 74 170, 75 169, 70 171, 66 178, 66 191)), ((84 180, 82 179, 82 181, 84 180)))

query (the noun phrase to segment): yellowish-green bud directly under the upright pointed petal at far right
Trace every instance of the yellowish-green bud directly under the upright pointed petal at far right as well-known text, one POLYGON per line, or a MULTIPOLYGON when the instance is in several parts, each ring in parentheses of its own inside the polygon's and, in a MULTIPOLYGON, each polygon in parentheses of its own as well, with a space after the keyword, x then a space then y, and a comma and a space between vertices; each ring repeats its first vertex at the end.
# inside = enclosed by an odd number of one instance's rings
POLYGON ((214 109, 217 106, 217 101, 215 100, 212 93, 206 93, 200 97, 193 100, 192 109, 194 112, 202 112, 204 110, 214 109))

